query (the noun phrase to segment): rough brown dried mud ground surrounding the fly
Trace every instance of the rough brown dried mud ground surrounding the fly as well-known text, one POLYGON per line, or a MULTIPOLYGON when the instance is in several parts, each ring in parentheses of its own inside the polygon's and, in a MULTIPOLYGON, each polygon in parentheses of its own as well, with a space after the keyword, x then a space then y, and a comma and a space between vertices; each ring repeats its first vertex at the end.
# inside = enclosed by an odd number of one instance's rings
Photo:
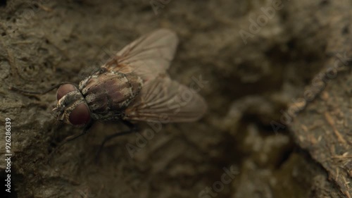
MULTIPOLYGON (((339 62, 338 75, 325 80, 326 87, 322 80, 312 82, 334 66, 339 54, 352 56, 351 1, 282 1, 275 16, 245 42, 240 30, 251 32, 250 18, 273 8, 272 1, 163 2, 158 14, 149 1, 0 2, 0 119, 12 120, 13 154, 11 193, 0 194, 351 195, 351 64, 339 62), (172 78, 185 85, 194 78, 206 81, 200 90, 209 105, 206 116, 196 123, 139 123, 140 134, 109 142, 97 163, 103 138, 125 127, 96 123, 53 154, 81 129, 56 124, 54 91, 29 97, 8 86, 41 90, 78 83, 125 44, 160 27, 180 37, 172 78), (322 94, 317 85, 325 88, 322 94), (317 97, 302 106, 297 99, 305 90, 317 97), (289 105, 300 107, 293 122, 283 118, 289 105), (273 129, 273 122, 280 127, 273 129), (156 130, 153 137, 148 129, 156 130), (131 145, 137 149, 129 152, 131 145), (230 181, 222 182, 224 174, 230 181)), ((1 160, 2 181, 5 167, 1 160)))

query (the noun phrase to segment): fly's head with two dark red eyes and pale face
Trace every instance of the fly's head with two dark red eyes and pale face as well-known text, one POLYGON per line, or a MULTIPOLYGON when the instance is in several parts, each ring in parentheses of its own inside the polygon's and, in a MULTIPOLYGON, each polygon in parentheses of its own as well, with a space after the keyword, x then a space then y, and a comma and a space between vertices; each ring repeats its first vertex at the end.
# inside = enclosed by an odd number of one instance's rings
POLYGON ((53 109, 56 118, 70 125, 85 125, 89 123, 90 112, 80 90, 72 84, 58 87, 56 94, 58 104, 53 109))

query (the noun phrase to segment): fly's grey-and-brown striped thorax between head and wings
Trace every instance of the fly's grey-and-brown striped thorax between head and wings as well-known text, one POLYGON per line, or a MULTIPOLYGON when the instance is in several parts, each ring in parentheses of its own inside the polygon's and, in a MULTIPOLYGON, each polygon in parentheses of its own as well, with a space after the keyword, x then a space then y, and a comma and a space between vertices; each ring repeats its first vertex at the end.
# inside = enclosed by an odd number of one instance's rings
POLYGON ((107 71, 90 76, 81 92, 93 119, 111 120, 122 114, 141 88, 138 76, 107 71))

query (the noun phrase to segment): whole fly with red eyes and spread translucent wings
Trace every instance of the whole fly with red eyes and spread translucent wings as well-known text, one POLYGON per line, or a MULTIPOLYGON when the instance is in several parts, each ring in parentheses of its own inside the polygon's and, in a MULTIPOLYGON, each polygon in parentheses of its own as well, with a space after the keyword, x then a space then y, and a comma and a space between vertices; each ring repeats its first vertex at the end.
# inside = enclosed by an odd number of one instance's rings
POLYGON ((134 121, 199 120, 206 112, 206 101, 167 73, 177 42, 175 32, 156 30, 128 44, 79 85, 62 82, 44 92, 20 92, 45 94, 58 87, 53 109, 56 119, 85 126, 68 140, 83 135, 95 120, 121 120, 130 127, 113 136, 134 131, 134 121))

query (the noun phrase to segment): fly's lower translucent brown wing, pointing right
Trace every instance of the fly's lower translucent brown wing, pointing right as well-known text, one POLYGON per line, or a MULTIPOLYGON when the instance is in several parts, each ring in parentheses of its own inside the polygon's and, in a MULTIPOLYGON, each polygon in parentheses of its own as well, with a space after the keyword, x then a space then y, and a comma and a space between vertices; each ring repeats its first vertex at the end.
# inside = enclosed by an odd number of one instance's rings
POLYGON ((199 120, 206 101, 167 76, 158 76, 144 85, 139 97, 125 110, 125 119, 174 123, 199 120))

